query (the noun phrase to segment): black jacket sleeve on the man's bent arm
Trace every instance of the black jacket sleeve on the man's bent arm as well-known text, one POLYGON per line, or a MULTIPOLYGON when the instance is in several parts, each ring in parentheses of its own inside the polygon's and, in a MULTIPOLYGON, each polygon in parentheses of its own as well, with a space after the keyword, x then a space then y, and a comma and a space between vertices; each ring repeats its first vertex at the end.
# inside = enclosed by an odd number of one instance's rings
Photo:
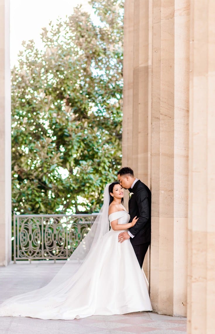
POLYGON ((134 236, 138 234, 140 230, 144 229, 149 221, 149 200, 147 191, 143 188, 139 188, 136 190, 135 196, 140 216, 136 224, 129 229, 130 233, 134 236))

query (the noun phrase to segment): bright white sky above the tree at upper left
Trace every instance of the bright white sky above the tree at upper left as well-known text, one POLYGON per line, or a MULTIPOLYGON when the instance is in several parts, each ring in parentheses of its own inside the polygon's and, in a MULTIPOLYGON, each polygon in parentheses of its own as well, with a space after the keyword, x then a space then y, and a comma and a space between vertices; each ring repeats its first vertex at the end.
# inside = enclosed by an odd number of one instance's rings
POLYGON ((88 0, 10 0, 10 61, 13 66, 22 41, 33 39, 40 48, 40 33, 49 21, 65 18, 73 13, 73 7, 82 5, 92 12, 88 0))

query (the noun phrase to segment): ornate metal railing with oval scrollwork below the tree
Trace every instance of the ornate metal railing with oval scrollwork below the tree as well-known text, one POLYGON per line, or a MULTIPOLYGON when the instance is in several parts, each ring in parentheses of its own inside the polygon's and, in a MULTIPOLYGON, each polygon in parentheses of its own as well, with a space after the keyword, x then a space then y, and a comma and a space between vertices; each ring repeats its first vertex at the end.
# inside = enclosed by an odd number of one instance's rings
POLYGON ((66 260, 87 234, 97 214, 14 214, 17 260, 66 260))

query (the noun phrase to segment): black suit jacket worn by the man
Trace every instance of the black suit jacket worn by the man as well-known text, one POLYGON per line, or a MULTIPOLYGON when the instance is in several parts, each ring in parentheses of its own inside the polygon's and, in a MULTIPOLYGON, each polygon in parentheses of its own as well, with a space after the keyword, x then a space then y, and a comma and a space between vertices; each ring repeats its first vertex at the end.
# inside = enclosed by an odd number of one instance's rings
POLYGON ((129 199, 129 222, 137 216, 138 221, 129 229, 134 235, 130 238, 133 245, 139 245, 151 241, 151 204, 152 195, 150 189, 140 180, 138 180, 130 192, 134 194, 129 199))

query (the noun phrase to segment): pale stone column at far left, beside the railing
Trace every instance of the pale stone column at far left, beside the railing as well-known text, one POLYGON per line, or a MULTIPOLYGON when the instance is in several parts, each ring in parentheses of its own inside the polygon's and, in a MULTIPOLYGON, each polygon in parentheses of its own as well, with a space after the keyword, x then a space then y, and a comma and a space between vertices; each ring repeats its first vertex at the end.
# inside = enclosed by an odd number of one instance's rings
POLYGON ((0 0, 0 265, 11 260, 10 1, 0 0))

